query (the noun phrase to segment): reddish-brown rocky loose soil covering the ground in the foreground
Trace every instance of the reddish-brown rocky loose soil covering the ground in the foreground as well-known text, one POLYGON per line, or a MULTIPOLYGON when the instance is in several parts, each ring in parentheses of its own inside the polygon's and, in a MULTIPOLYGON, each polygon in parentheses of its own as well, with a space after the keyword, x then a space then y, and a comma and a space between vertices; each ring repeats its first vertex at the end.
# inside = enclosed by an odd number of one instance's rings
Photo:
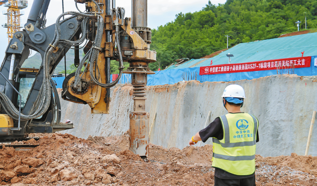
MULTIPOLYGON (((145 162, 129 151, 129 134, 90 136, 31 134, 31 150, 0 149, 0 184, 12 186, 213 186, 212 146, 149 145, 145 162)), ((257 186, 317 186, 317 156, 256 155, 257 186)))

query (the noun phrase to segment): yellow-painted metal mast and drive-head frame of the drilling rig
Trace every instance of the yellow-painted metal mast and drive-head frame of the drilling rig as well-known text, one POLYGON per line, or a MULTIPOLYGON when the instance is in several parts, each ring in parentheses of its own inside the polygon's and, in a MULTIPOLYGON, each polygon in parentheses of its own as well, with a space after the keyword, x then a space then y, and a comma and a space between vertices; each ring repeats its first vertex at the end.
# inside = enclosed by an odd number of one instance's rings
MULTIPOLYGON (((88 2, 88 6, 95 7, 95 4, 93 2, 88 2)), ((104 8, 104 14, 102 14, 103 17, 106 17, 105 23, 108 23, 111 18, 108 18, 109 16, 106 16, 106 6, 103 6, 104 8)), ((115 19, 115 16, 113 17, 115 19)), ((121 19, 119 19, 119 24, 121 24, 121 19)), ((111 21, 109 24, 112 24, 111 21)), ((112 28, 112 27, 111 27, 112 28)), ((141 37, 140 35, 131 28, 131 18, 128 20, 127 26, 123 25, 121 28, 126 31, 129 36, 132 38, 133 43, 134 43, 134 49, 136 50, 135 52, 135 60, 146 60, 150 62, 156 61, 156 52, 155 51, 150 51, 150 45, 147 44, 141 37)), ((112 50, 111 50, 111 43, 106 42, 106 31, 111 31, 111 30, 104 30, 103 33, 103 38, 102 38, 102 43, 100 48, 105 48, 106 53, 105 54, 100 54, 98 56, 98 69, 97 69, 97 77, 99 76, 99 82, 106 84, 106 57, 112 57, 112 50), (110 47, 110 48, 109 48, 110 47)), ((93 68, 95 69, 95 67, 93 68)), ((90 77, 90 71, 89 67, 86 72, 83 72, 84 74, 82 75, 82 78, 86 81, 89 82, 91 80, 90 77)), ((95 71, 93 72, 95 73, 95 71)), ((77 94, 75 91, 72 90, 71 88, 71 83, 74 81, 74 77, 71 77, 70 80, 68 81, 68 92, 87 102, 87 104, 91 107, 91 113, 92 114, 108 114, 109 113, 109 102, 110 100, 107 100, 106 97, 106 88, 102 88, 98 85, 90 86, 85 93, 82 94, 77 94)))

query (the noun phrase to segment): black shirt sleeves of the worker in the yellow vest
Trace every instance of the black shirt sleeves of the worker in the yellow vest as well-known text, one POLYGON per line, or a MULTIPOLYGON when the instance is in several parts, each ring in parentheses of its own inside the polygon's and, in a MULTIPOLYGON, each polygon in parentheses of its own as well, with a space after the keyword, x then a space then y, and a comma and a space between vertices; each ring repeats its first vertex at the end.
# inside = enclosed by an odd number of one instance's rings
MULTIPOLYGON (((223 139, 223 129, 220 122, 220 118, 217 117, 213 120, 206 128, 199 131, 200 138, 205 143, 208 138, 217 138, 218 140, 223 139)), ((259 142, 259 131, 256 132, 256 142, 259 142)))

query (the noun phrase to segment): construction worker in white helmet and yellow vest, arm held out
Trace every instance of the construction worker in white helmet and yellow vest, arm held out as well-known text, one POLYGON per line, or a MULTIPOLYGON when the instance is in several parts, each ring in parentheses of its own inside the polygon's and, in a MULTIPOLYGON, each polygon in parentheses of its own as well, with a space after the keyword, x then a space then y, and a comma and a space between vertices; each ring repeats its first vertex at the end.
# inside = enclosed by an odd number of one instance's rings
POLYGON ((241 112, 246 98, 240 85, 227 86, 222 94, 228 114, 217 117, 189 141, 194 145, 212 137, 214 186, 255 186, 255 143, 259 141, 258 120, 241 112))

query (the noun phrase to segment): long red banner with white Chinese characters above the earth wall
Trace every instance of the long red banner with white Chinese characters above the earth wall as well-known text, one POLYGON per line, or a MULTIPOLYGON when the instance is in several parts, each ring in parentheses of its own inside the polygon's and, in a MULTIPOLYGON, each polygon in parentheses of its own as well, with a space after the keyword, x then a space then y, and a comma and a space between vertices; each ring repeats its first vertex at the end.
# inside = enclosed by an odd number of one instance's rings
POLYGON ((219 64, 212 66, 200 67, 199 75, 207 74, 225 74, 235 72, 250 72, 259 70, 275 70, 277 66, 280 68, 303 68, 311 66, 311 57, 300 57, 300 58, 285 58, 279 60, 267 60, 260 62, 246 62, 246 63, 234 63, 234 64, 219 64))

